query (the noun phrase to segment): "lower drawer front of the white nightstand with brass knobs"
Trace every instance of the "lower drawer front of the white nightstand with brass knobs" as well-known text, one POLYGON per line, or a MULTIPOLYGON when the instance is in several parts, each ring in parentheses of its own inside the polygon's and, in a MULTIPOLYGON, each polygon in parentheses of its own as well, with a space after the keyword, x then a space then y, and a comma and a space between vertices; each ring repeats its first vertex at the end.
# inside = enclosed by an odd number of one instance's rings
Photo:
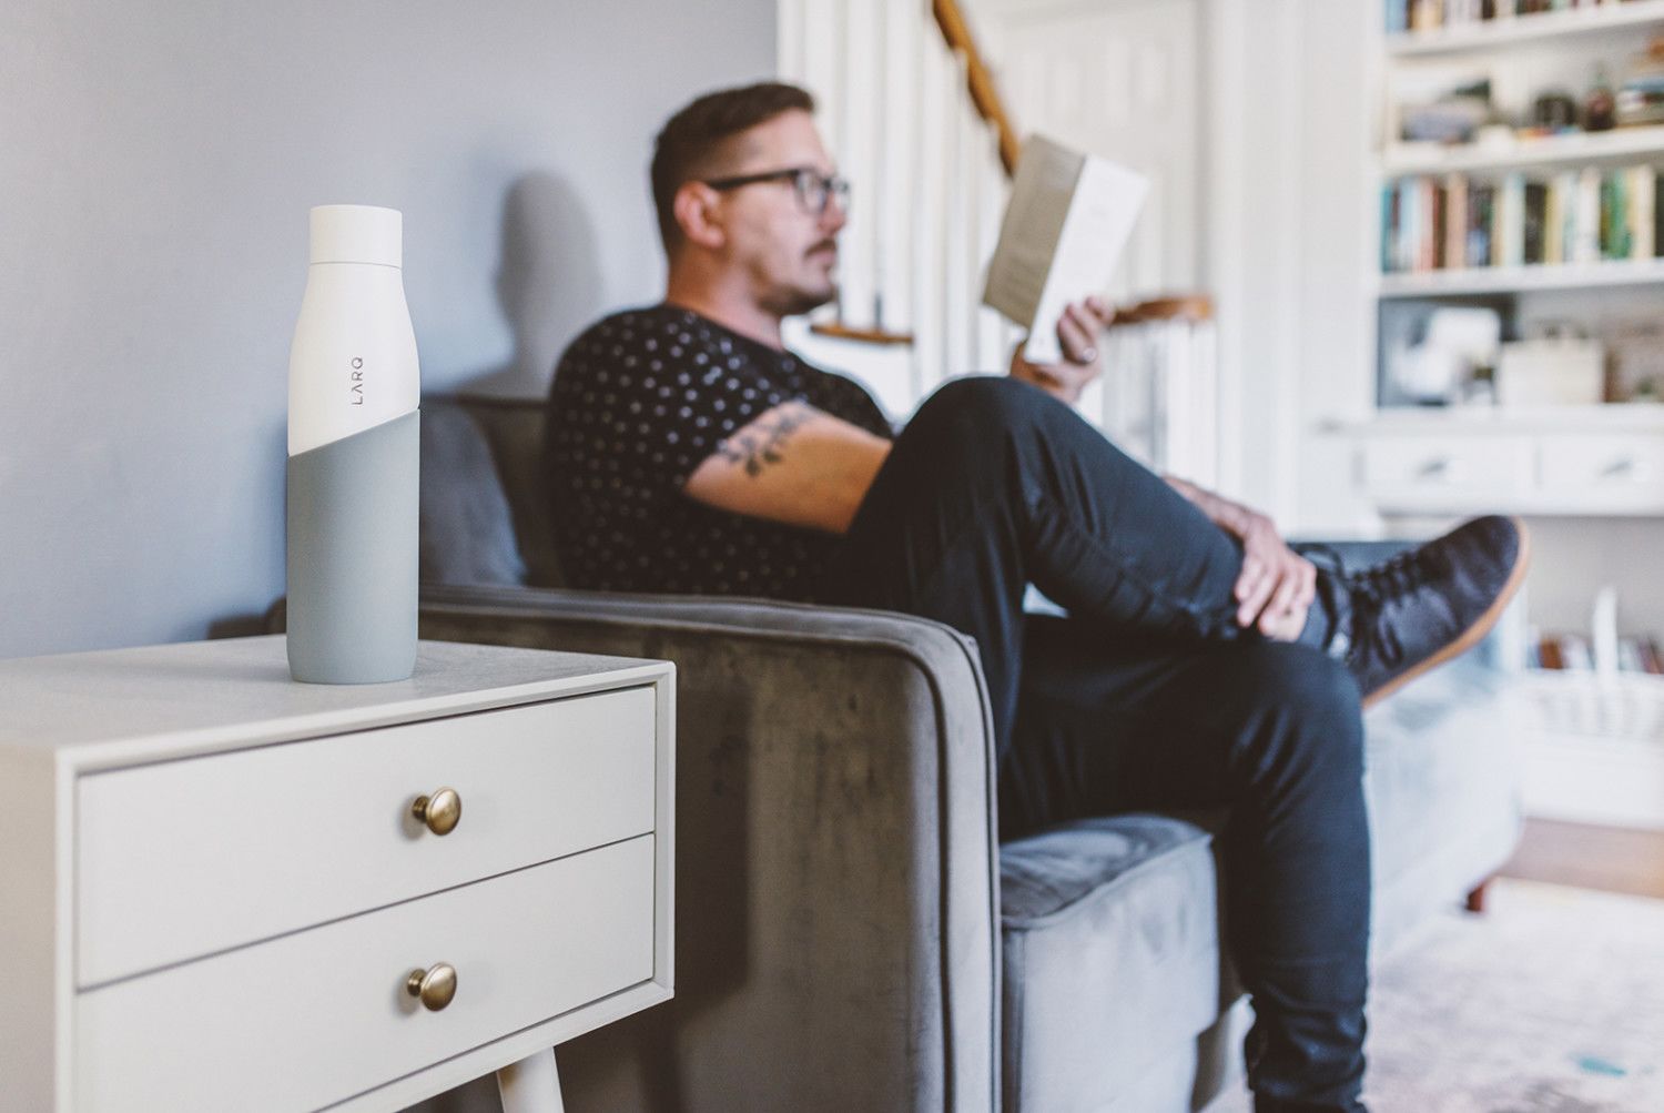
POLYGON ((646 982, 652 870, 644 835, 82 993, 75 1108, 314 1110, 646 982))

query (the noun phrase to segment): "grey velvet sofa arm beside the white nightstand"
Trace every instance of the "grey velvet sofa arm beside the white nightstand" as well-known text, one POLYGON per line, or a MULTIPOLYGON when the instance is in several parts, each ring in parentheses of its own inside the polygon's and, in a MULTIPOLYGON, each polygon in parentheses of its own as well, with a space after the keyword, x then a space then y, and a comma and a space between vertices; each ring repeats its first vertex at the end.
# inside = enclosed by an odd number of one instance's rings
POLYGON ((995 769, 968 639, 527 587, 424 587, 419 626, 677 665, 677 993, 562 1045, 571 1108, 997 1105, 995 769))

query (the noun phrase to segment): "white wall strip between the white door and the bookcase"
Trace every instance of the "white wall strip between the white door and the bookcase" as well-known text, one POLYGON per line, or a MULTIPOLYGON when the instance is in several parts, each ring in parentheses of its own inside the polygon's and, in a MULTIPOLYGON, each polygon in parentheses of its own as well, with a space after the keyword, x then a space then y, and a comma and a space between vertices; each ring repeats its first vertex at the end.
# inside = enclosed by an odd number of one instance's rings
POLYGON ((1206 0, 1205 275, 1218 296, 1223 484, 1291 532, 1359 532, 1366 416, 1366 0, 1206 0), (1233 418, 1235 416, 1235 418, 1233 418))

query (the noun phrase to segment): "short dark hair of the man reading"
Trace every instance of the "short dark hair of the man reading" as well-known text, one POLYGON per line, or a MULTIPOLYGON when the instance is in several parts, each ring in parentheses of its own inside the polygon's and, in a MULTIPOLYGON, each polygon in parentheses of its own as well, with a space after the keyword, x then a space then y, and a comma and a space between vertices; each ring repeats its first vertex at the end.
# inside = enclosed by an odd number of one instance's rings
POLYGON ((759 82, 706 93, 666 121, 652 145, 652 203, 666 253, 682 238, 676 223, 682 183, 712 173, 727 140, 794 110, 814 111, 815 98, 795 85, 759 82))

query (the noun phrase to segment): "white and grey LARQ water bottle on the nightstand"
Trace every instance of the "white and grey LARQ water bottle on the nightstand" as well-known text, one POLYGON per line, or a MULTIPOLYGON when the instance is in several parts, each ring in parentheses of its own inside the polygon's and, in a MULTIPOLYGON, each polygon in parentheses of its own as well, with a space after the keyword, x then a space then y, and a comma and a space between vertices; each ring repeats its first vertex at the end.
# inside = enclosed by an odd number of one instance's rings
POLYGON ((311 684, 416 667, 421 376, 403 231, 391 208, 311 211, 286 496, 290 674, 311 684))

